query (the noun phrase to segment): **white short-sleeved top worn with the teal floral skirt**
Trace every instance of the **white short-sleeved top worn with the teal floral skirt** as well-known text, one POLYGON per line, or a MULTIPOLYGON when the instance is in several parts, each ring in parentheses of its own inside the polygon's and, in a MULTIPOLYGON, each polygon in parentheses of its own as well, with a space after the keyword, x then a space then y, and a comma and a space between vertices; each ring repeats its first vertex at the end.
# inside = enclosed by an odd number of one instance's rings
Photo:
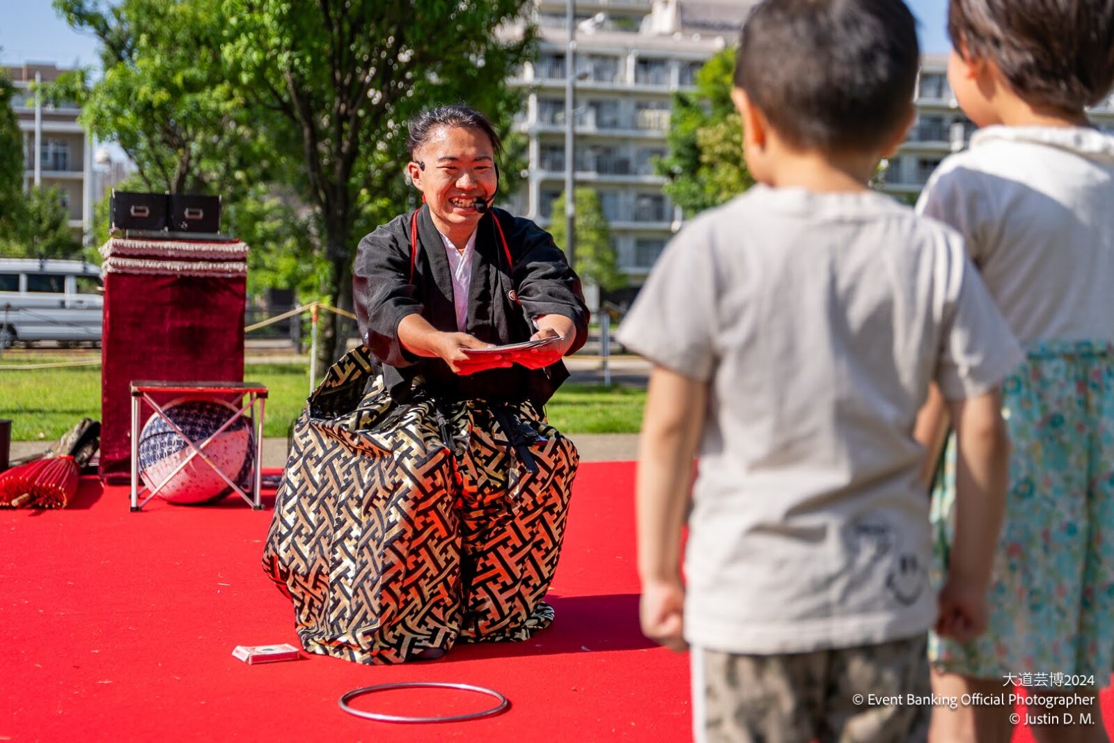
POLYGON ((980 129, 940 164, 917 208, 964 235, 1022 341, 1114 340, 1114 137, 980 129))

